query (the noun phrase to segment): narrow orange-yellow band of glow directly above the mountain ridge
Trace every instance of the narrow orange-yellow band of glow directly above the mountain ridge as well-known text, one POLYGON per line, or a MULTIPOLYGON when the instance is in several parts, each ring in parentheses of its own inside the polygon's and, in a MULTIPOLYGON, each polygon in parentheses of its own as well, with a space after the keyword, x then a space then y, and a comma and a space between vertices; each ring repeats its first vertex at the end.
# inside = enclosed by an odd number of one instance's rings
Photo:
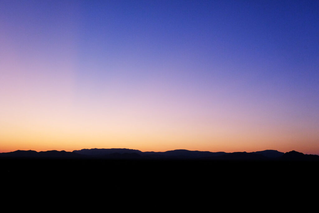
MULTIPOLYGON (((34 127, 34 126, 33 126, 34 127)), ((61 128, 61 127, 60 127, 61 128)), ((54 128, 52 128, 54 129, 54 128)), ((287 152, 291 150, 300 151, 303 153, 313 153, 312 146, 305 147, 300 144, 300 140, 305 138, 297 138, 297 134, 292 134, 289 137, 281 136, 277 140, 267 136, 252 135, 250 138, 244 134, 226 134, 221 133, 219 137, 217 133, 199 133, 174 131, 158 131, 158 132, 142 132, 137 134, 133 131, 109 132, 73 132, 70 134, 70 129, 55 129, 56 131, 46 131, 45 129, 24 129, 15 131, 6 131, 6 135, 2 135, 2 150, 0 152, 9 152, 15 150, 65 150, 73 151, 82 148, 131 148, 140 151, 167 151, 174 149, 188 149, 199 151, 261 151, 265 149, 277 149, 278 151, 287 152), (94 137, 95 135, 95 137, 94 137), (215 136, 214 136, 215 135, 215 136), (132 140, 135 139, 135 141, 132 140), (258 138, 264 138, 263 141, 258 138), (197 142, 194 142, 197 141, 197 142), (287 142, 289 141, 289 143, 287 142), (275 147, 275 148, 273 148, 275 147), (312 152, 311 152, 312 151, 312 152)), ((87 130, 87 129, 86 129, 87 130)), ((308 141, 311 141, 309 137, 308 141)), ((313 145, 315 145, 313 140, 313 145)))

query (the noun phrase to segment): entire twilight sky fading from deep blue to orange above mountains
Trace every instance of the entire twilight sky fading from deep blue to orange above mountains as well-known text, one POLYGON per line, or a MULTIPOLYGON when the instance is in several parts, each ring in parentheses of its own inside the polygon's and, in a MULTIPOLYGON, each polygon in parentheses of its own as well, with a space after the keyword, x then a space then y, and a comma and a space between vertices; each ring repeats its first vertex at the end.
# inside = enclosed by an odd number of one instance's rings
POLYGON ((318 1, 0 1, 0 152, 319 154, 318 1))

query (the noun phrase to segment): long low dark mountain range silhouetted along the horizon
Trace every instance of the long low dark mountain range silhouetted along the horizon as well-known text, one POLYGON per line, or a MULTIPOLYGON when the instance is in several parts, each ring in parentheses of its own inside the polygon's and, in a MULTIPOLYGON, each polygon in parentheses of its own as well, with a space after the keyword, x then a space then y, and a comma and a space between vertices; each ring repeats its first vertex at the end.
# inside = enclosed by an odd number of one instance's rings
POLYGON ((284 160, 284 161, 319 161, 318 155, 307 155, 297 151, 279 152, 263 150, 257 152, 209 152, 176 149, 166 152, 142 152, 127 148, 92 148, 67 151, 17 150, 0 153, 2 158, 62 158, 62 159, 192 159, 192 160, 284 160))

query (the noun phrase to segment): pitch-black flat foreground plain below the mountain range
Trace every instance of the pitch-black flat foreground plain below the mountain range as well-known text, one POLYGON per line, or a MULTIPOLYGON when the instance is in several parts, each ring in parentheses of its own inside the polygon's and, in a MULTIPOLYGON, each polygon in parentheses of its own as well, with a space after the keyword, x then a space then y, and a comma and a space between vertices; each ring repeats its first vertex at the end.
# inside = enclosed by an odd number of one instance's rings
POLYGON ((24 205, 143 212, 318 210, 318 161, 2 158, 0 165, 2 193, 24 205))

